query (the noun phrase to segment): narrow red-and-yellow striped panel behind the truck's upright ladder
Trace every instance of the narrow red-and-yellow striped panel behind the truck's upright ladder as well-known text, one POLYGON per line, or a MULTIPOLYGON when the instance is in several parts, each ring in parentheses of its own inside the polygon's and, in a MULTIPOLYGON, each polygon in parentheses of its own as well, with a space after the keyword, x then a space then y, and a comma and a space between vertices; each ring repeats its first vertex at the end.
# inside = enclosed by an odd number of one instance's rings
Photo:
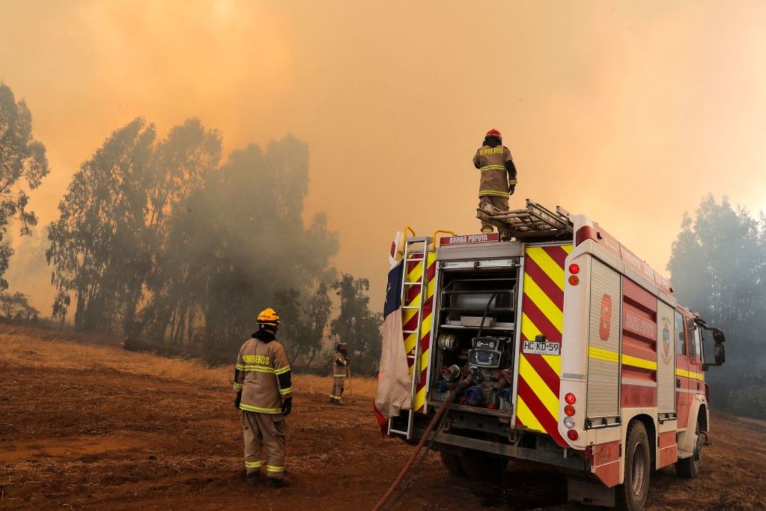
MULTIPOLYGON (((405 267, 407 274, 404 277, 405 282, 418 282, 423 276, 424 264, 423 254, 411 254, 405 267)), ((410 366, 410 377, 417 378, 415 384, 415 393, 412 398, 412 408, 421 413, 426 412, 426 391, 428 386, 428 359, 430 357, 431 331, 434 326, 434 286, 436 284, 436 254, 430 253, 426 258, 426 275, 424 287, 426 296, 424 296, 422 317, 415 309, 402 310, 402 325, 404 326, 404 350, 408 357, 415 355, 415 346, 417 346, 417 326, 421 325, 420 353, 417 360, 408 358, 410 366), (407 331, 415 333, 407 333, 407 331), (417 375, 414 374, 418 369, 417 375)), ((407 286, 404 289, 405 306, 420 306, 421 304, 421 286, 419 284, 407 286)))

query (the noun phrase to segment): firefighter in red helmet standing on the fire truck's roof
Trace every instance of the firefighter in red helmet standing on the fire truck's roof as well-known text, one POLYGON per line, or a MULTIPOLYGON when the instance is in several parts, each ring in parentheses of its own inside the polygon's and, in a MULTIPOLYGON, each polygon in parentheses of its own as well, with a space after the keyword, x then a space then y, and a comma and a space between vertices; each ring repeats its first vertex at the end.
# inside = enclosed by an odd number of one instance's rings
MULTIPOLYGON (((479 208, 489 213, 508 211, 508 198, 516 192, 516 165, 511 151, 502 145, 502 135, 490 129, 483 145, 473 156, 473 165, 481 172, 479 182, 479 208)), ((481 231, 492 232, 492 225, 482 221, 481 231)))

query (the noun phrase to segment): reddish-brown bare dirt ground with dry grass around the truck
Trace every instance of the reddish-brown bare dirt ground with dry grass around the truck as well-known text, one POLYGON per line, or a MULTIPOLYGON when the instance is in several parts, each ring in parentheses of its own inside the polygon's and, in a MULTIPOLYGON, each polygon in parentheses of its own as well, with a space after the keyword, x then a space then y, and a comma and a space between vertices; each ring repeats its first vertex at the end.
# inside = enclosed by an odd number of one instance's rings
MULTIPOLYGON (((355 404, 337 408, 329 378, 298 375, 292 484, 251 488, 230 373, 0 327, 0 508, 371 509, 411 453, 381 439, 375 382, 353 382, 355 404)), ((699 478, 653 474, 647 509, 766 509, 766 423, 711 421, 699 478)), ((511 464, 497 485, 450 477, 430 454, 397 509, 580 509, 565 500, 547 467, 511 464)))

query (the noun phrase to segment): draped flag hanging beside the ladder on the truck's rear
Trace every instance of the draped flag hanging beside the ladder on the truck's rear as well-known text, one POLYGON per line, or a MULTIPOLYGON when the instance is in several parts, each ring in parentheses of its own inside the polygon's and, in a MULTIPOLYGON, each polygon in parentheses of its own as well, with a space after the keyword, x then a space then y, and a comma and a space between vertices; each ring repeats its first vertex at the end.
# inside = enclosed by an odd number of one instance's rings
POLYGON ((402 410, 412 408, 412 381, 404 352, 401 324, 401 282, 404 275, 404 235, 396 233, 389 254, 388 287, 383 306, 383 345, 378 371, 378 391, 375 393, 375 418, 381 433, 388 432, 388 419, 402 410))

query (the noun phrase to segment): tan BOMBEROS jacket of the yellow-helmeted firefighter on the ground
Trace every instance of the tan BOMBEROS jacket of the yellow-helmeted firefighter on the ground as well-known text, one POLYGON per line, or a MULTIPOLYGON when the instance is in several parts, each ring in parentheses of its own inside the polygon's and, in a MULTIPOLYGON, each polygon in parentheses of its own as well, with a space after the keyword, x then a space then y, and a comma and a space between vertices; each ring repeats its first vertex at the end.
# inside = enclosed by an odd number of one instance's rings
POLYGON ((255 332, 240 348, 234 390, 242 391, 242 410, 281 414, 283 398, 293 395, 290 379, 285 349, 271 332, 255 332))

